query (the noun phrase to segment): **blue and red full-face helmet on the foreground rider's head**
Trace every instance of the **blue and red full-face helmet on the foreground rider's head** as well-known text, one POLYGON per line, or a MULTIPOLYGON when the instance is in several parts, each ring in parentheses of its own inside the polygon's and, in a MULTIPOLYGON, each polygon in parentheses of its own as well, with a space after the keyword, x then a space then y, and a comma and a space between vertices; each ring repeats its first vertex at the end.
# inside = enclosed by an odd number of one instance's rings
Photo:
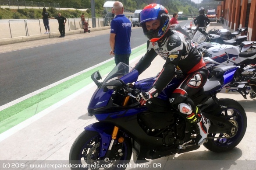
POLYGON ((139 14, 139 25, 150 42, 157 42, 167 33, 170 27, 170 17, 167 9, 156 3, 144 7, 139 14), (160 19, 160 26, 156 30, 147 30, 146 22, 160 19))

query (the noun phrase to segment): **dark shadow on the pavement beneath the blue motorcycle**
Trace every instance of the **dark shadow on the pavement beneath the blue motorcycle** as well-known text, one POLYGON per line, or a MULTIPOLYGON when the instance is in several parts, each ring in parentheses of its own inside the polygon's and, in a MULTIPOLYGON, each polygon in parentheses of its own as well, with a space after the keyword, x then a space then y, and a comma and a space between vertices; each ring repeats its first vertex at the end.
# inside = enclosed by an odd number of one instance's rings
MULTIPOLYGON (((171 155, 157 160, 152 160, 149 164, 132 164, 133 170, 229 170, 244 169, 244 166, 253 167, 256 161, 237 161, 242 156, 242 150, 234 148, 226 153, 214 153, 207 151, 192 151, 188 153, 171 155), (141 166, 141 167, 136 167, 141 166), (235 168, 234 168, 235 167, 235 168)), ((249 168, 251 169, 251 168, 249 168)))

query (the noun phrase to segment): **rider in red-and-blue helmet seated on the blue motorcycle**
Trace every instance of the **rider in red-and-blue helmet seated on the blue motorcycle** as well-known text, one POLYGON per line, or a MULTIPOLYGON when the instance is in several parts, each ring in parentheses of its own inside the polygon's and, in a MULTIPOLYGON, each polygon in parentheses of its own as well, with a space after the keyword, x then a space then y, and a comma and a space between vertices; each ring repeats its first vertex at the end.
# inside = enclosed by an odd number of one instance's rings
POLYGON ((169 13, 162 5, 153 3, 146 6, 139 15, 139 24, 149 41, 147 52, 136 64, 135 69, 141 74, 157 55, 166 62, 153 87, 148 92, 138 94, 136 100, 143 105, 150 98, 157 97, 171 82, 177 69, 181 69, 186 78, 171 94, 169 101, 188 122, 197 125, 195 142, 197 145, 203 144, 208 134, 209 120, 189 98, 196 94, 207 80, 208 71, 202 56, 195 49, 193 42, 186 40, 185 35, 170 29, 169 13))

